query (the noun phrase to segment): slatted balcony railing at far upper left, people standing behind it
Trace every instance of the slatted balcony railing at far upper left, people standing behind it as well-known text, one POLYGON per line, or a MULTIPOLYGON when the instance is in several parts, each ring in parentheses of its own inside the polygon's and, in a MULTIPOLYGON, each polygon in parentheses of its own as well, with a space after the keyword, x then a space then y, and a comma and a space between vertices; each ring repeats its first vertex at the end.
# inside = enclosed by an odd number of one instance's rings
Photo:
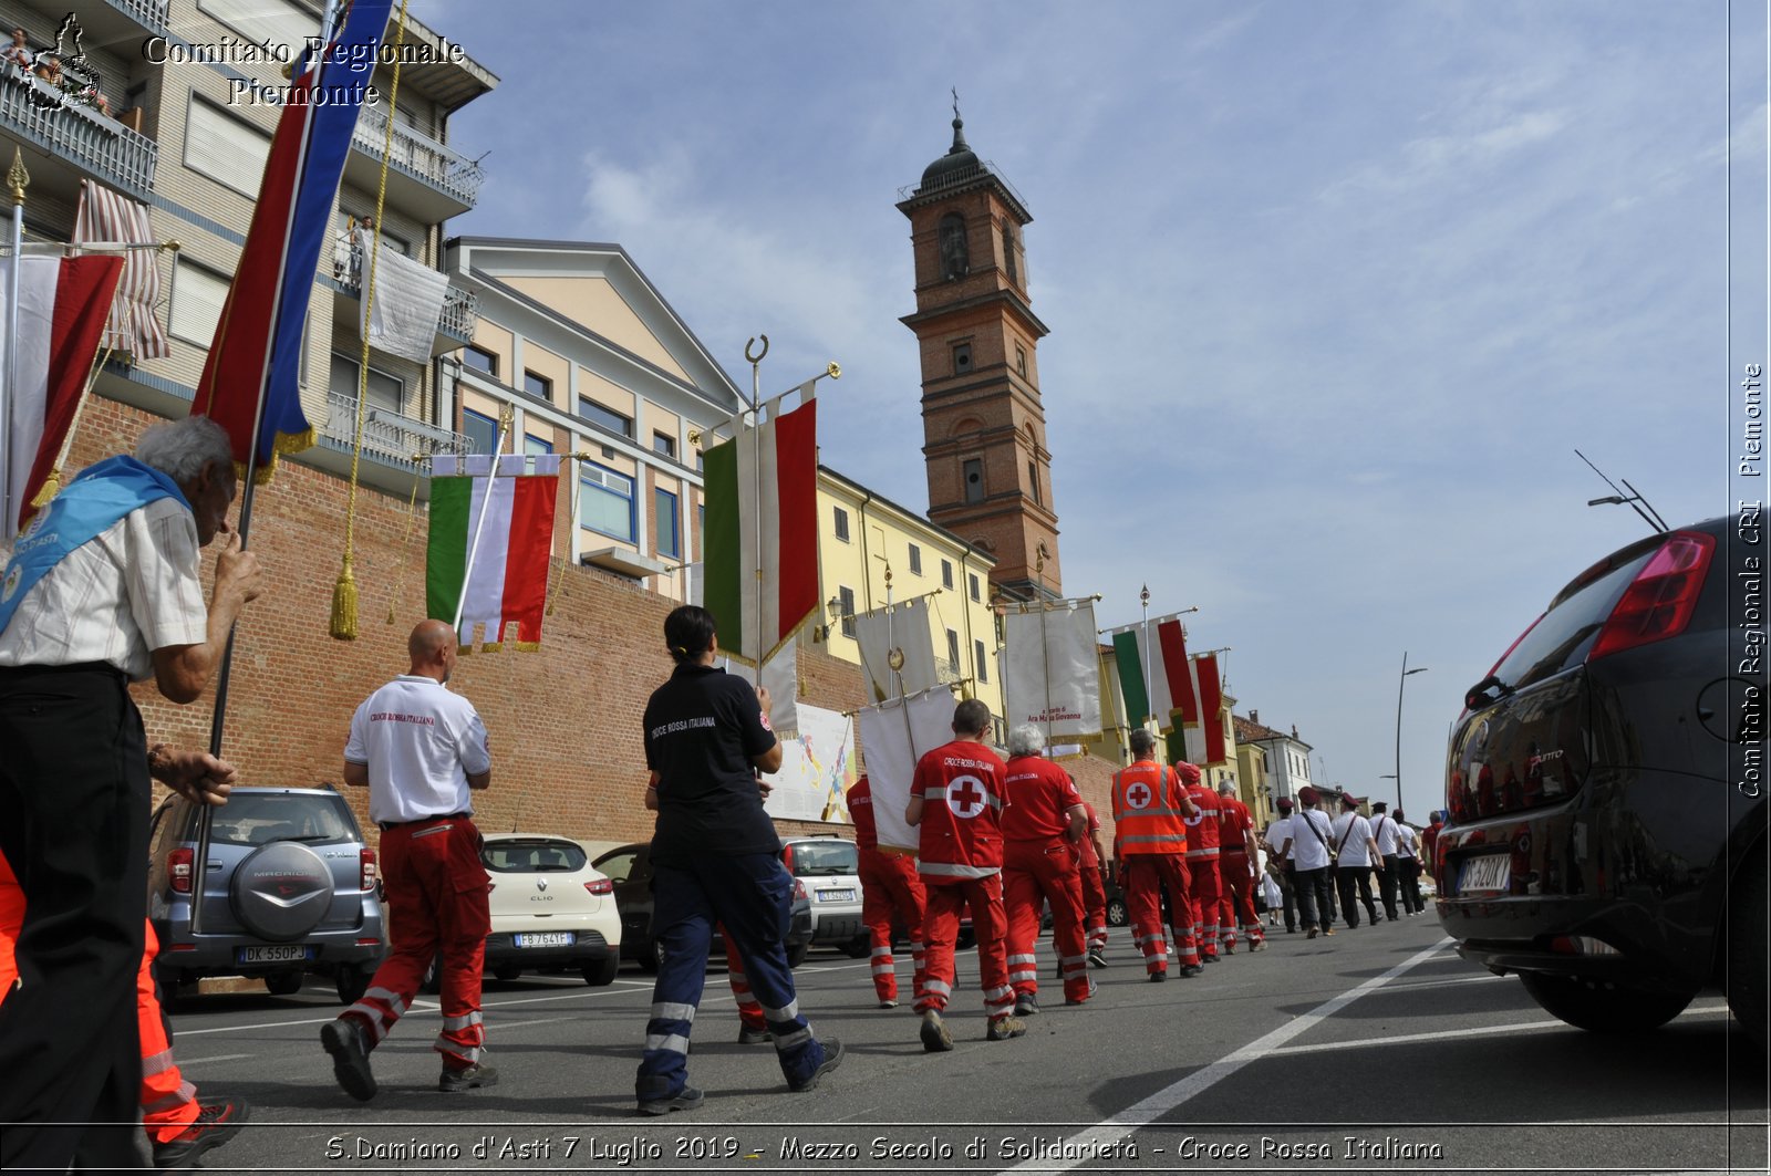
POLYGON ((136 200, 152 195, 159 143, 16 67, 0 73, 0 131, 27 149, 27 198, 50 193, 73 204, 87 177, 136 200))

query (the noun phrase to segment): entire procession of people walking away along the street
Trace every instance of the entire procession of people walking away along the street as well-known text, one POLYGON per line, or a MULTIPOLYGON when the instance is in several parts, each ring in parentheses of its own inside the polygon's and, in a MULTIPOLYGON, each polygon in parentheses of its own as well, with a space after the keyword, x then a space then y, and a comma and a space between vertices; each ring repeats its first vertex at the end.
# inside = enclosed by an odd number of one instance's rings
MULTIPOLYGON (((207 753, 149 746, 129 694, 152 680, 175 703, 200 698, 223 662, 234 620, 260 593, 259 565, 230 531, 236 473, 227 434, 202 416, 156 425, 133 457, 81 471, 37 514, 0 577, 0 1165, 62 1171, 136 1167, 145 1126, 156 1167, 195 1162, 239 1130, 243 1100, 198 1100, 172 1057, 156 1001, 145 917, 149 781, 197 804, 225 804, 232 765, 207 753), (225 537, 211 592, 200 549, 225 537), (30 1080, 19 1080, 19 1075, 30 1080), (83 1125, 83 1126, 76 1126, 83 1125)), ((381 836, 390 955, 363 997, 321 1029, 340 1087, 377 1086, 370 1054, 411 1008, 441 958, 437 1089, 498 1082, 485 1064, 482 944, 491 928, 473 795, 492 758, 475 707, 446 689, 455 631, 421 622, 409 668, 375 689, 349 723, 344 781, 368 790, 381 836)), ((650 770, 643 806, 652 839, 653 937, 662 946, 634 1080, 641 1114, 691 1110, 687 1056, 715 930, 731 962, 740 1041, 772 1041, 792 1091, 843 1061, 799 1008, 785 932, 793 882, 763 809, 781 744, 767 691, 719 669, 714 616, 682 606, 664 622, 675 671, 645 708, 650 770)), ((986 744, 990 710, 955 707, 953 740, 923 754, 903 811, 914 854, 882 847, 873 790, 850 793, 880 1008, 898 1004, 894 925, 912 948, 917 1034, 953 1048, 946 1013, 962 919, 971 916, 986 1013, 985 1038, 1025 1034, 1040 1013, 1034 944, 1050 910, 1064 1004, 1094 997, 1107 967, 1105 871, 1118 863, 1132 942, 1149 981, 1181 978, 1236 951, 1264 948, 1254 894, 1277 882, 1286 930, 1334 935, 1357 901, 1378 919, 1422 909, 1424 838, 1357 801, 1330 820, 1312 788, 1302 809, 1256 836, 1231 785, 1217 792, 1190 763, 1164 765, 1149 731, 1132 731, 1133 762, 1112 781, 1114 847, 1064 769, 1043 754, 1038 726, 1017 726, 1004 762, 986 744), (1264 857, 1264 864, 1263 864, 1264 857), (1171 948, 1172 940, 1172 948, 1171 948)), ((1272 917, 1272 912, 1270 912, 1272 917)))

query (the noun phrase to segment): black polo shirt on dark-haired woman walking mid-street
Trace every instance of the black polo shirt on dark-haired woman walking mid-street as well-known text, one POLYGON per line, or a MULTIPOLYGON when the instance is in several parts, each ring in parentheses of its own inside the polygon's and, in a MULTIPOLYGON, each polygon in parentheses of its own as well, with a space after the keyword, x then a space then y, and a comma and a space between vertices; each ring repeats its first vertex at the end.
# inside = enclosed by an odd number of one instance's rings
POLYGON ((645 733, 646 767, 659 774, 653 863, 781 848, 751 763, 776 746, 756 687, 717 666, 677 666, 646 703, 645 733))

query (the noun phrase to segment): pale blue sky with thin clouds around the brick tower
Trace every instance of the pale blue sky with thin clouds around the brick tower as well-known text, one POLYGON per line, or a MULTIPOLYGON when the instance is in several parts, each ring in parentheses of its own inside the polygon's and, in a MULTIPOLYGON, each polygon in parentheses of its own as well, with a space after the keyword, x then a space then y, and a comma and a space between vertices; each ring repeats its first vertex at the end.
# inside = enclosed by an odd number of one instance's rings
POLYGON ((1612 489, 1576 448, 1672 526, 1730 505, 1730 372, 1764 352, 1762 7, 413 14, 501 78, 452 120, 489 154, 450 234, 620 243, 744 390, 756 335, 765 395, 839 361, 822 460, 923 510, 894 204, 956 87, 1034 218, 1064 592, 1103 627, 1146 583, 1151 616, 1197 607, 1190 646, 1229 646, 1238 712, 1296 726, 1319 783, 1394 799, 1399 767, 1406 809, 1443 804, 1465 691, 1647 533, 1587 505, 1612 489), (1427 669, 1397 765, 1404 652, 1427 669))

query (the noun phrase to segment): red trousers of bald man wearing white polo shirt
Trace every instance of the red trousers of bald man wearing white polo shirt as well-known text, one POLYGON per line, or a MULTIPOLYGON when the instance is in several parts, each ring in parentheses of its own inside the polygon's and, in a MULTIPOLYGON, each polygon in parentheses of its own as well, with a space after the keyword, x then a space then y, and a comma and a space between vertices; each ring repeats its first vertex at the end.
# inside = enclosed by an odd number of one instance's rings
POLYGON ((363 1025, 370 1048, 381 1045, 441 953, 443 1033, 430 1048, 443 1054, 445 1068, 464 1070, 480 1061, 485 1045, 480 981, 492 914, 480 831, 466 816, 395 825, 381 834, 381 863, 390 953, 363 999, 340 1017, 363 1025))

